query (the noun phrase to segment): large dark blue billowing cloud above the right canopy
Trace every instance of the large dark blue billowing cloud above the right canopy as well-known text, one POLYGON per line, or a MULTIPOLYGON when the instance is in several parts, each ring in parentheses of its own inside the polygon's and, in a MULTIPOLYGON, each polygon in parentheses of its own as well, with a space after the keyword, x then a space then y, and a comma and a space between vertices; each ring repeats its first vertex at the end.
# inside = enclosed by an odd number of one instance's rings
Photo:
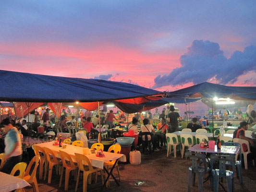
POLYGON ((199 84, 215 78, 219 84, 233 84, 249 71, 256 71, 256 46, 235 51, 230 59, 223 55, 218 43, 195 40, 180 57, 181 67, 168 75, 155 78, 153 88, 165 85, 199 84))

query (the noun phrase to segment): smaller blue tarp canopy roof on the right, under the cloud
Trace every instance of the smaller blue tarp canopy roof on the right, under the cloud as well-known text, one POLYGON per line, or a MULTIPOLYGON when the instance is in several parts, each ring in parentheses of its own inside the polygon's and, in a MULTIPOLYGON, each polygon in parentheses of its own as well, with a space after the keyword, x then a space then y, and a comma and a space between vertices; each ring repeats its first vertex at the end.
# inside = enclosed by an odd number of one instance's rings
POLYGON ((240 100, 256 100, 256 87, 225 86, 220 84, 201 83, 184 89, 169 92, 169 98, 214 98, 223 97, 240 100))

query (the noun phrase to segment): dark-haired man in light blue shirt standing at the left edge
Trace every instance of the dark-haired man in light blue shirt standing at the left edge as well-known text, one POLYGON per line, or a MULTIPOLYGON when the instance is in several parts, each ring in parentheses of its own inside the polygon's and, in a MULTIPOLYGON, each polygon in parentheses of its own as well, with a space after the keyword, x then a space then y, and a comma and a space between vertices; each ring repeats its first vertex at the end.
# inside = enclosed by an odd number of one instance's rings
POLYGON ((5 158, 6 162, 0 169, 1 172, 10 174, 12 168, 22 159, 22 143, 19 131, 12 126, 8 118, 2 121, 5 131, 7 132, 4 139, 5 148, 5 158))

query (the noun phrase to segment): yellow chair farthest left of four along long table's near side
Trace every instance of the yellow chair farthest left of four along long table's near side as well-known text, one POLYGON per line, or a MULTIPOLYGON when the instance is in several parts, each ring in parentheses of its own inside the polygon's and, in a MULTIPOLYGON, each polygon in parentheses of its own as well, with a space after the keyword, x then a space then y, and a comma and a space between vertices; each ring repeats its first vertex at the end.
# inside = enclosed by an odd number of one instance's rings
POLYGON ((34 151, 36 156, 40 156, 40 164, 39 164, 39 180, 43 179, 43 168, 44 168, 44 164, 45 164, 45 177, 44 180, 46 180, 46 174, 47 174, 47 157, 46 157, 46 153, 45 150, 37 145, 33 145, 34 151), (42 156, 43 155, 43 156, 42 156))

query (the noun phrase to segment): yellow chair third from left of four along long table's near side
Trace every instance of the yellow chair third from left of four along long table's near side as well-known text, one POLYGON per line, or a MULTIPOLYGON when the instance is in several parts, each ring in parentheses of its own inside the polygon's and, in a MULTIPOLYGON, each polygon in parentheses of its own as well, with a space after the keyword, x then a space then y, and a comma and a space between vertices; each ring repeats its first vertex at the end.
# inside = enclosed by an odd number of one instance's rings
MULTIPOLYGON (((59 187, 61 187, 61 181, 62 181, 62 177, 63 177, 63 172, 64 172, 64 168, 66 168, 66 173, 65 173, 65 191, 68 191, 68 185, 69 185, 69 173, 72 170, 76 170, 78 167, 77 165, 75 165, 73 163, 73 160, 71 158, 71 156, 64 152, 64 151, 60 151, 61 154, 61 159, 62 159, 62 168, 61 168, 61 179, 60 179, 60 183, 59 183, 59 187)), ((74 180, 76 180, 76 174, 74 173, 74 180)))

